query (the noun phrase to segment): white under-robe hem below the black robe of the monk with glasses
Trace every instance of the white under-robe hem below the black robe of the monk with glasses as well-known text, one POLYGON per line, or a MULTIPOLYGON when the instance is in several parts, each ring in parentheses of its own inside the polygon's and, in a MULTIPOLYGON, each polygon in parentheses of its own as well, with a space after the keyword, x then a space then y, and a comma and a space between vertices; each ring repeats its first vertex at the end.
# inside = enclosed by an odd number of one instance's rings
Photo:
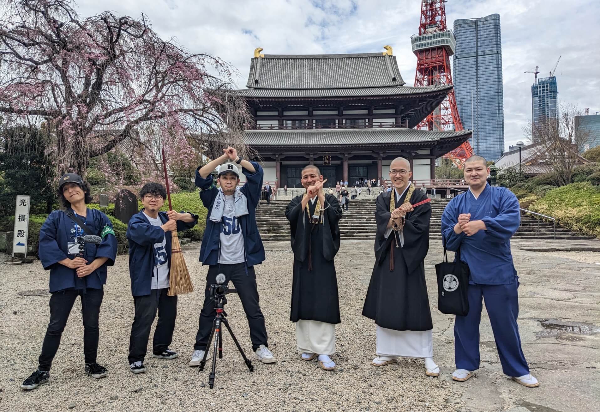
POLYGON ((393 330, 377 326, 377 355, 433 357, 433 330, 393 330))

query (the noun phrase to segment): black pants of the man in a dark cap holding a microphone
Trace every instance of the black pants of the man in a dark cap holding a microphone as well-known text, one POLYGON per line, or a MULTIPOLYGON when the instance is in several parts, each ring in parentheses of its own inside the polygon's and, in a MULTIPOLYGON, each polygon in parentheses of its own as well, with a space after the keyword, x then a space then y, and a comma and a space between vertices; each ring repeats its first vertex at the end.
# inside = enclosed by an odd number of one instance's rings
POLYGON ((65 330, 77 296, 81 296, 85 363, 96 363, 98 338, 100 338, 98 317, 100 317, 100 305, 104 297, 104 290, 88 289, 86 293, 83 293, 83 290, 72 289, 54 292, 50 297, 50 323, 48 323, 40 359, 38 359, 40 371, 49 371, 52 366, 52 360, 61 344, 62 331, 65 330))

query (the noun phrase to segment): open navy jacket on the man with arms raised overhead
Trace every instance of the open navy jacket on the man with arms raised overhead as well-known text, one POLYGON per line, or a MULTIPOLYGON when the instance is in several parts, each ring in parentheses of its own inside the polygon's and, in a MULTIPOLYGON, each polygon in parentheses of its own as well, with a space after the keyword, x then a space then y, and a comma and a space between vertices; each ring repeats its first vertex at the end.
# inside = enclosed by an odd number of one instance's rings
MULTIPOLYGON (((242 236, 244 236, 244 248, 248 266, 254 266, 265 260, 265 248, 260 239, 259 229, 256 225, 256 206, 259 204, 260 190, 262 189, 263 169, 256 162, 250 162, 256 172, 250 173, 242 167, 242 173, 246 176, 246 183, 240 189, 248 200, 248 214, 241 216, 242 236)), ((206 213, 206 229, 200 246, 200 261, 205 264, 217 264, 219 254, 219 235, 223 230, 222 222, 213 222, 209 217, 212 205, 217 199, 218 189, 212 182, 212 176, 202 178, 196 170, 196 186, 200 188, 200 200, 208 212, 206 213)))

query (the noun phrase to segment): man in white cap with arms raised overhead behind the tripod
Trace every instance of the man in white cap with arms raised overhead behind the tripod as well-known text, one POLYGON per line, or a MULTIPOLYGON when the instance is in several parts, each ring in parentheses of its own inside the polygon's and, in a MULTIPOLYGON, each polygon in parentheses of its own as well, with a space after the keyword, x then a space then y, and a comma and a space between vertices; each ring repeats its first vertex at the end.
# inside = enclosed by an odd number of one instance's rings
POLYGON ((206 230, 200 246, 200 261, 209 267, 205 300, 200 312, 190 366, 200 365, 206 351, 215 318, 209 285, 216 283, 219 273, 223 273, 226 282, 232 281, 238 289, 239 300, 248 318, 254 357, 263 363, 275 362, 275 357, 268 348, 265 317, 260 311, 254 273, 254 265, 265 260, 265 248, 256 226, 256 206, 260 199, 262 181, 263 170, 259 164, 242 159, 236 149, 231 147, 223 149, 221 157, 196 170, 196 186, 200 188, 200 199, 208 210, 206 230), (228 163, 222 164, 227 160, 228 163), (238 165, 246 176, 245 185, 239 189, 238 165), (211 172, 217 167, 218 189, 211 176, 211 172))

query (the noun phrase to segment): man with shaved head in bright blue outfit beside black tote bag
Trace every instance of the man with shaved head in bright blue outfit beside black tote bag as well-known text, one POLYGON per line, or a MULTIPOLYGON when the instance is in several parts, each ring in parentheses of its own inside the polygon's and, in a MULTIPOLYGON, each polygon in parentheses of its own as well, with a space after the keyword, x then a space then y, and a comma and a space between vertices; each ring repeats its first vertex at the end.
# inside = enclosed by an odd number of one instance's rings
POLYGON ((448 203, 442 215, 442 235, 448 250, 460 248, 469 265, 469 313, 454 324, 455 381, 466 381, 479 369, 479 322, 482 298, 490 316, 502 371, 518 383, 538 386, 521 349, 517 270, 510 239, 521 222, 517 197, 506 188, 487 184, 490 169, 481 156, 464 164, 469 191, 448 203))

